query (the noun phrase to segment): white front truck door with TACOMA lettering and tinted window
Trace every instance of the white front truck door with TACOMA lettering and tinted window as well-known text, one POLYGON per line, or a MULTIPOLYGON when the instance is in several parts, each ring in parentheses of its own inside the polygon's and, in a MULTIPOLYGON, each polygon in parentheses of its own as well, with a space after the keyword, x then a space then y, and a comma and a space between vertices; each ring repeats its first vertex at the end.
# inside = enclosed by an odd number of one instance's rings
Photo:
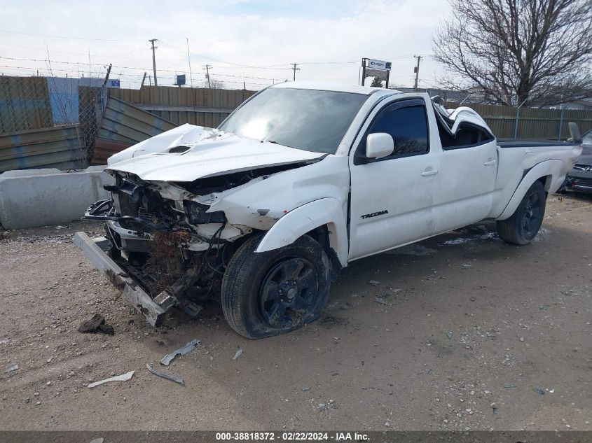
POLYGON ((390 101, 366 119, 350 155, 350 260, 432 235, 441 150, 429 132, 424 99, 390 101), (366 137, 380 132, 394 150, 369 159, 366 137))

